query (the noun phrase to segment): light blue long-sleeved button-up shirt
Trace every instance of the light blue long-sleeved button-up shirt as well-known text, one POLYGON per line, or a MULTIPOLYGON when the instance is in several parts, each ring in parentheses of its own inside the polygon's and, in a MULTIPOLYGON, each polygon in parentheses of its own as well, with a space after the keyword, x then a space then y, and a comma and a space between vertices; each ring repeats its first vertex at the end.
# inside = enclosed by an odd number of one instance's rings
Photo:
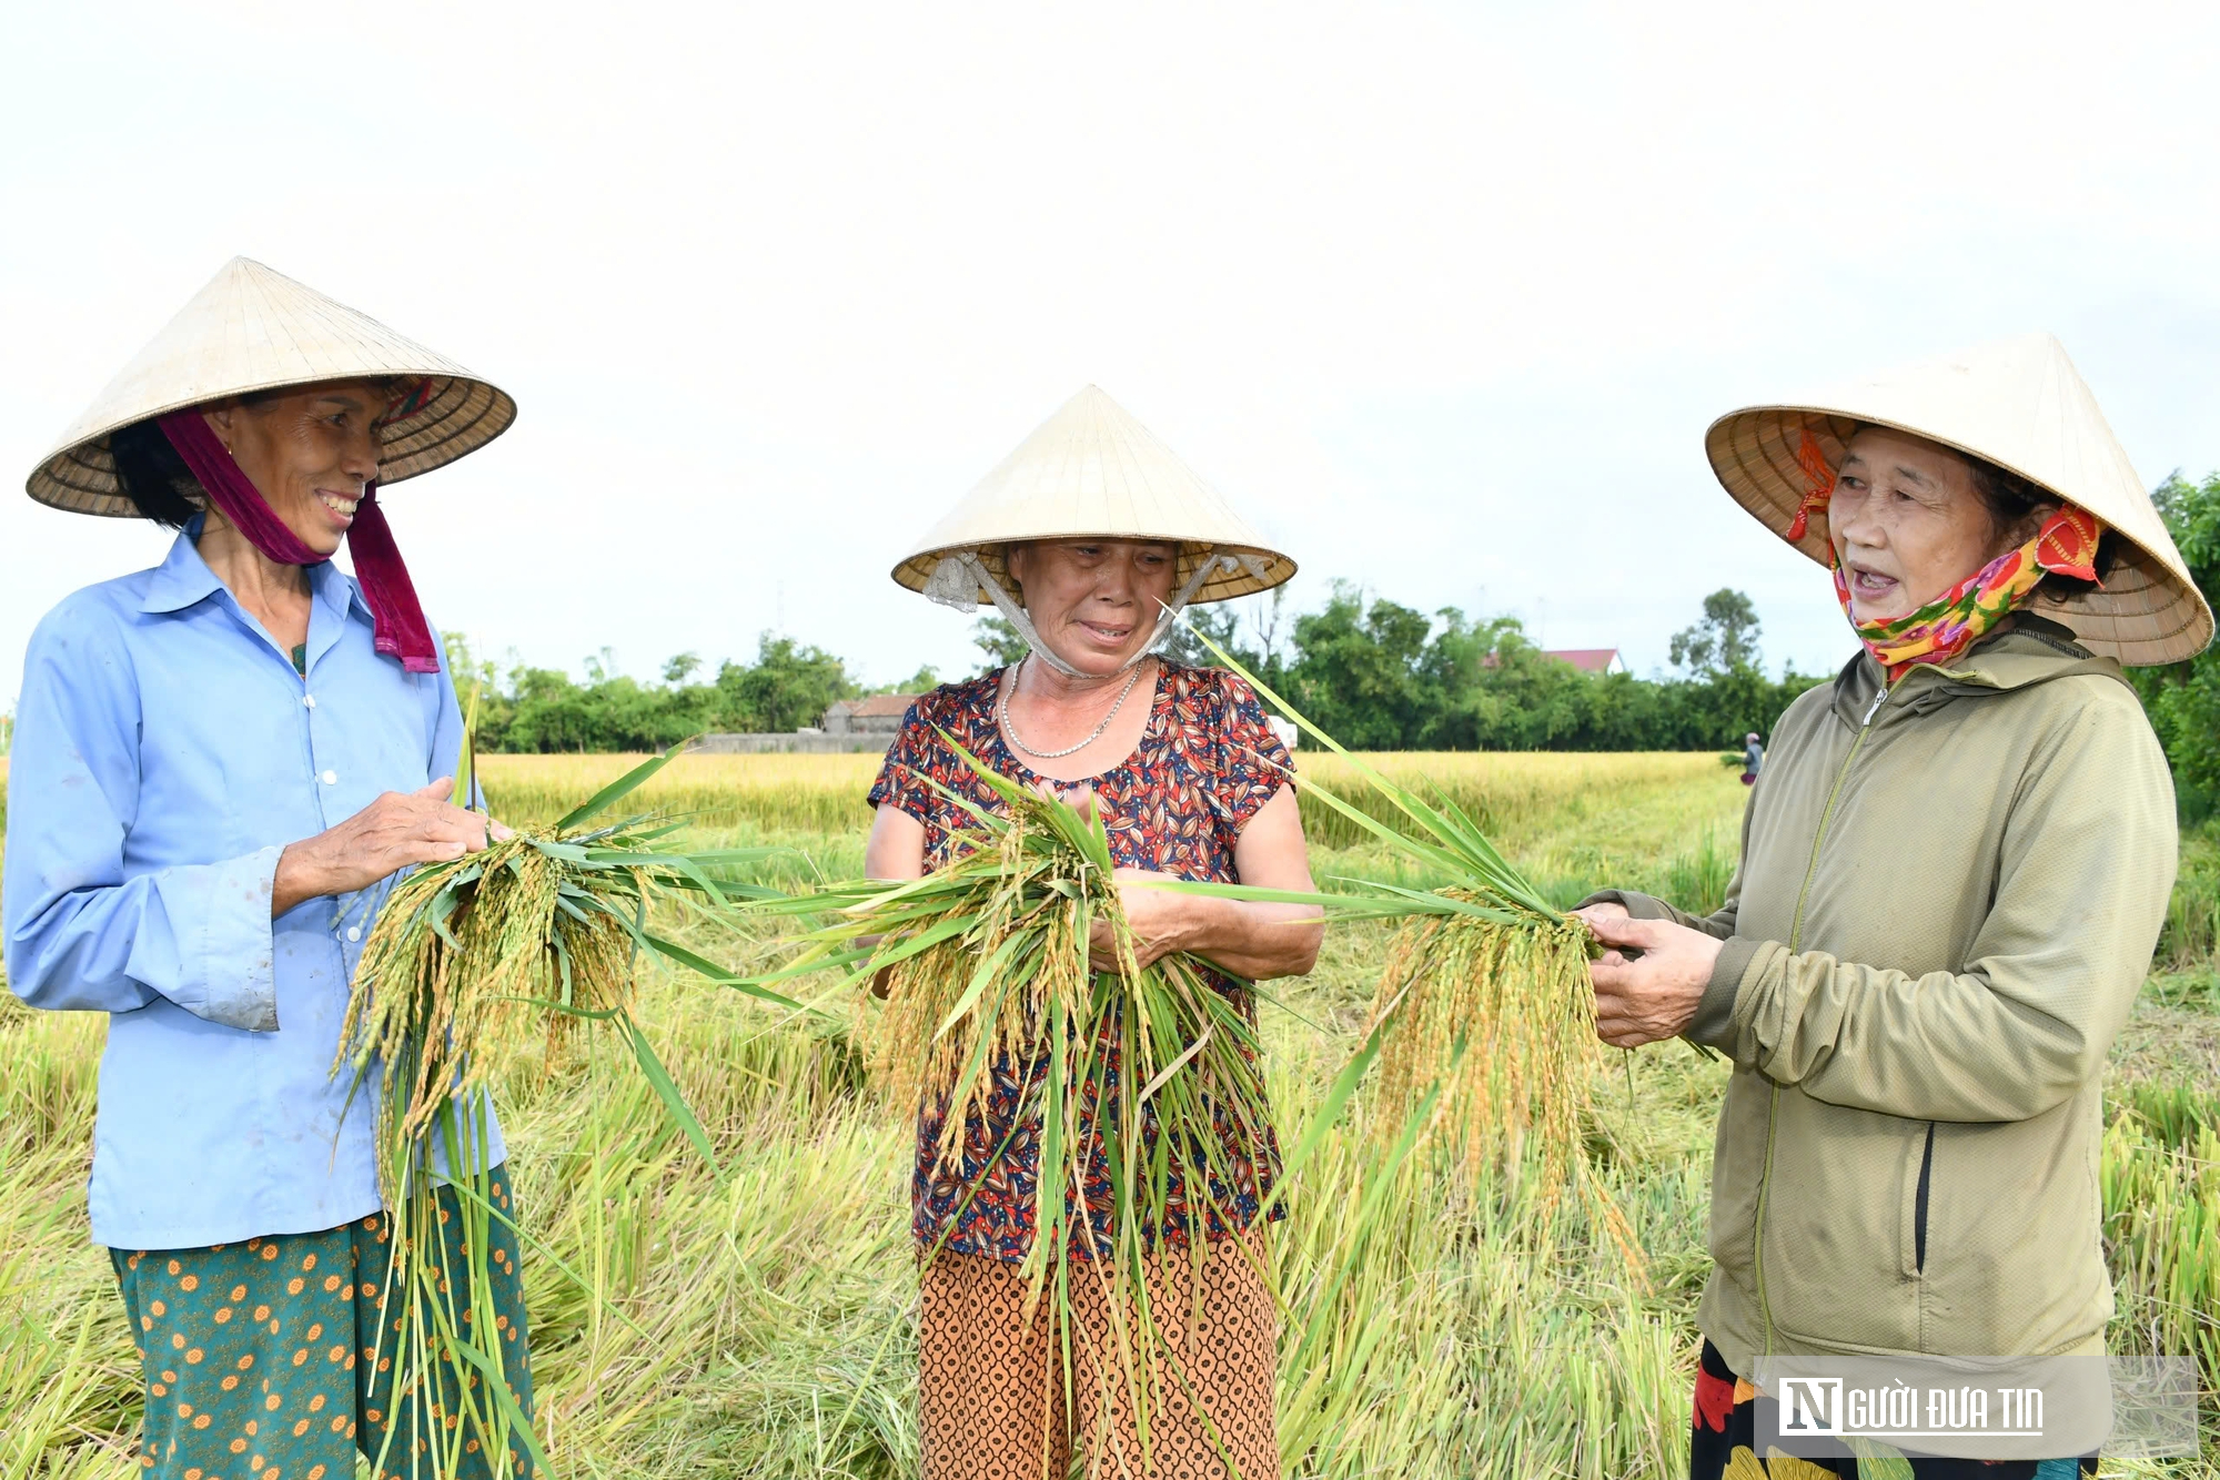
POLYGON ((380 657, 346 575, 306 568, 302 679, 193 533, 38 624, 9 763, 9 987, 109 1014, 89 1198, 124 1249, 377 1212, 375 1083, 342 1118, 331 1063, 389 885, 271 919, 271 883, 286 843, 453 774, 462 739, 444 666, 380 657))

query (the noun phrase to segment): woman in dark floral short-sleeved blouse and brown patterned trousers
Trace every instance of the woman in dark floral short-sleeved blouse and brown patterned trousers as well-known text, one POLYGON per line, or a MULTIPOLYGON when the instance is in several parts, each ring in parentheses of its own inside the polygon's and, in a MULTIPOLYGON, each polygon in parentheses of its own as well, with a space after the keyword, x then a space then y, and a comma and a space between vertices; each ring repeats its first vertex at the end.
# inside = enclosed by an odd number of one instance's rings
MULTIPOLYGON (((1217 963, 1223 974, 1210 985, 1254 1016, 1243 979, 1310 972, 1321 936, 1321 925, 1305 923, 1312 912, 1143 885, 1170 876, 1310 890, 1292 761, 1248 683, 1154 650, 1179 608, 1270 590, 1290 575, 1294 564, 1270 553, 1163 444, 1101 391, 1081 391, 895 570, 910 590, 957 610, 992 604, 1030 650, 910 710, 870 788, 868 874, 917 879, 948 859, 968 823, 948 792, 1001 805, 946 732, 997 772, 1092 805, 1108 821, 1143 965, 1172 950, 1217 963), (1146 524, 1134 508, 1150 510, 1146 524)), ((1097 945, 1108 947, 1108 934, 1097 945)), ((1019 1265, 1032 1249, 1043 1169, 1041 1116, 1023 1105, 1039 1096, 1043 1072, 995 1067, 997 1092, 966 1127, 961 1165, 935 1149, 944 1107, 919 1107, 910 1227, 924 1260, 926 1480, 1063 1480, 1074 1462, 1088 1476, 1143 1473, 1121 1378, 1099 1356, 1112 1349, 1103 1300, 1074 1276, 1074 1329, 1059 1327, 1054 1294, 1026 1318, 1019 1265)), ((1183 1369, 1174 1376, 1159 1358, 1166 1398, 1148 1433, 1148 1473, 1265 1480, 1279 1476, 1279 1440, 1261 1209, 1279 1183, 1279 1145, 1270 1127, 1252 1134, 1228 1118, 1219 1152, 1225 1174, 1177 1189, 1170 1205, 1185 1212, 1148 1231, 1148 1289, 1183 1369), (1210 1247, 1199 1265, 1197 1238, 1210 1247)), ((1046 1174, 1054 1180, 1054 1167, 1046 1174)), ((1074 1194, 1050 1187, 1046 1196, 1074 1194)), ((1072 1254, 1108 1258, 1112 1176, 1101 1152, 1083 1196, 1072 1254)))

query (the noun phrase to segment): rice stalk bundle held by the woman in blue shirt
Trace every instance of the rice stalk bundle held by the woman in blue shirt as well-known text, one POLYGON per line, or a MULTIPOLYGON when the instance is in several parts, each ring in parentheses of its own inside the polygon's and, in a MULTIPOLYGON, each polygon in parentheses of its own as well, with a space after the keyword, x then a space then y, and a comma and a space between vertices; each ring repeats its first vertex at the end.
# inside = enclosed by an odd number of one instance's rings
MULTIPOLYGON (((624 1038, 673 1118, 715 1160, 630 1018, 633 976, 639 952, 650 950, 744 985, 653 934, 648 916, 664 896, 697 894, 722 905, 733 892, 757 892, 713 879, 755 854, 662 852, 677 823, 648 817, 593 825, 675 754, 635 768, 546 832, 517 832, 482 852, 415 868, 393 885, 362 947, 333 1076, 351 1072, 349 1107, 364 1089, 375 1101, 391 1267, 380 1280, 371 1360, 377 1369, 391 1360, 391 1378, 380 1378, 386 1409, 413 1418, 413 1431, 393 1422, 384 1436, 386 1451, 397 1447, 411 1458, 411 1473, 428 1464, 428 1473, 455 1476, 464 1456, 482 1469, 477 1451, 500 1456, 511 1444, 546 1467, 511 1396, 515 1347, 504 1354, 493 1320, 493 1225, 533 1243, 497 1205, 488 1165, 486 1083, 502 1054, 533 1038, 553 1047, 602 1025, 624 1038), (460 1238, 442 1229, 448 1198, 433 1196, 435 1187, 451 1189, 460 1238)), ((473 794, 468 746, 457 790, 473 794)), ((393 1473, 386 1453, 377 1456, 377 1473, 393 1473)))

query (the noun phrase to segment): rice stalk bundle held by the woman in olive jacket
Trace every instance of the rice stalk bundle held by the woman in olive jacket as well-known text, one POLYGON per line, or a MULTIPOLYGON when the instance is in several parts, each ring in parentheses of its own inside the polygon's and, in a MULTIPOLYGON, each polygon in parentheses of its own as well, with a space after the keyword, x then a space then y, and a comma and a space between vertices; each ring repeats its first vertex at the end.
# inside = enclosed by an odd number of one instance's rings
POLYGON ((1336 879, 1348 894, 1314 896, 1239 885, 1174 888, 1301 899, 1339 916, 1403 916, 1372 1007, 1374 1125, 1396 1138, 1414 1116, 1430 1118, 1452 1160, 1474 1176, 1516 1178, 1532 1158, 1538 1220, 1547 1223, 1565 1189, 1576 1187, 1629 1267, 1638 1267, 1625 1214, 1585 1154, 1594 1078, 1603 1065, 1587 981, 1596 947, 1587 925, 1552 905, 1454 801, 1436 797, 1430 803, 1388 779, 1303 719, 1205 632, 1197 639, 1305 734, 1343 757, 1410 828, 1390 828, 1310 781, 1305 788, 1316 801, 1452 883, 1423 892, 1336 879))

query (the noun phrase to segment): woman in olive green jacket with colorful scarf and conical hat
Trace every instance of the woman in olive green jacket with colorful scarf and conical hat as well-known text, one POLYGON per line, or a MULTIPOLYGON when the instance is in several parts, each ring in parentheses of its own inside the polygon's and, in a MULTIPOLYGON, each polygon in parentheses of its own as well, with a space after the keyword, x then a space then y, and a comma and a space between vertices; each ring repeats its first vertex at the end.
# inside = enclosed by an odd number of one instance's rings
POLYGON ((2102 1354, 2100 1081, 2176 868, 2167 759, 2120 666, 2213 632, 2049 335, 1738 410, 1707 446, 1829 568, 1860 650, 1774 728, 1716 914, 1616 890, 1581 910, 1610 947, 1605 1043, 1734 1061, 1698 1480, 1769 1473, 1763 1356, 2102 1354))

